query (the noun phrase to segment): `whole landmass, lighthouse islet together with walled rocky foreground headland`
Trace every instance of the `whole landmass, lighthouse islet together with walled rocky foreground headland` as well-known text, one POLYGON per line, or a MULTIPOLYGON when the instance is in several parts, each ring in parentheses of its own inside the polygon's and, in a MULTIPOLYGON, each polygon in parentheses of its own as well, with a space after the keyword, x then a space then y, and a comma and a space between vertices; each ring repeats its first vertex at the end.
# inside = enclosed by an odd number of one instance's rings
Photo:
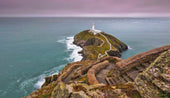
MULTIPOLYGON (((92 29, 93 30, 93 29, 92 29)), ((68 63, 58 75, 25 98, 169 98, 170 45, 125 60, 127 45, 105 32, 75 35, 83 59, 68 63)))

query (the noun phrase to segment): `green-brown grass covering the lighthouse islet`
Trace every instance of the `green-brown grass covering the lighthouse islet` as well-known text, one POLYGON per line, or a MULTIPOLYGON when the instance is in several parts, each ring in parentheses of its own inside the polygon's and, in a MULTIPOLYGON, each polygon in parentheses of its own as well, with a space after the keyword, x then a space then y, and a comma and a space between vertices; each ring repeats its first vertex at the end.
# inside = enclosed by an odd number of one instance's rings
MULTIPOLYGON (((121 41, 119 41, 118 39, 116 39, 114 36, 102 33, 111 43, 111 47, 112 50, 114 51, 119 51, 120 49, 120 44, 123 44, 121 41)), ((79 42, 79 41, 87 41, 88 39, 91 38, 97 38, 99 40, 101 40, 100 42, 103 42, 102 45, 100 46, 96 46, 96 45, 88 45, 85 46, 86 48, 86 59, 88 60, 96 60, 98 58, 99 53, 101 53, 102 55, 105 54, 105 51, 110 50, 110 45, 109 43, 107 43, 105 37, 103 37, 101 34, 92 34, 91 32, 88 32, 88 30, 82 31, 80 33, 78 33, 75 36, 75 41, 79 42)), ((98 43, 99 41, 95 41, 94 44, 98 43)), ((125 45, 126 46, 126 45, 125 45)))

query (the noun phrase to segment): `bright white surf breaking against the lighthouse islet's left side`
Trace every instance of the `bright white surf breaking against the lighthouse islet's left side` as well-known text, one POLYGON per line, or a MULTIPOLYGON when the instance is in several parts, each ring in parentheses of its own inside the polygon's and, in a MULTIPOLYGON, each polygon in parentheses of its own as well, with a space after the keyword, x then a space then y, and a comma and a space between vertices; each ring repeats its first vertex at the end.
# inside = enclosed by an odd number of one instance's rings
POLYGON ((66 45, 67 45, 67 49, 69 51, 72 51, 72 53, 70 54, 69 60, 76 62, 76 61, 80 61, 83 58, 81 54, 78 53, 79 51, 82 50, 82 48, 74 45, 73 41, 74 41, 74 37, 67 37, 66 45))

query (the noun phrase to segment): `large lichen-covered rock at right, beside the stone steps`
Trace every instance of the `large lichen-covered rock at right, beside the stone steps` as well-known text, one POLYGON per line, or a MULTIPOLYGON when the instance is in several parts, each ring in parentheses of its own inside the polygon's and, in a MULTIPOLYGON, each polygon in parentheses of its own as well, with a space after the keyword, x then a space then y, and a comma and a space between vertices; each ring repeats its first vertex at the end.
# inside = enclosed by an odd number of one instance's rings
POLYGON ((137 76, 135 86, 145 98, 170 97, 170 50, 162 53, 137 76))

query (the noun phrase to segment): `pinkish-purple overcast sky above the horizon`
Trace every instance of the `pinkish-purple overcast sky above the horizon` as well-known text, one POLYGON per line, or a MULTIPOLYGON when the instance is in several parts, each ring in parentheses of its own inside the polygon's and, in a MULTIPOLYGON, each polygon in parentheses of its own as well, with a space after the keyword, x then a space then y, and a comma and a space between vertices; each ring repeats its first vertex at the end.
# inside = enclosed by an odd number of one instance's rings
POLYGON ((0 0, 0 16, 170 16, 170 0, 0 0))

